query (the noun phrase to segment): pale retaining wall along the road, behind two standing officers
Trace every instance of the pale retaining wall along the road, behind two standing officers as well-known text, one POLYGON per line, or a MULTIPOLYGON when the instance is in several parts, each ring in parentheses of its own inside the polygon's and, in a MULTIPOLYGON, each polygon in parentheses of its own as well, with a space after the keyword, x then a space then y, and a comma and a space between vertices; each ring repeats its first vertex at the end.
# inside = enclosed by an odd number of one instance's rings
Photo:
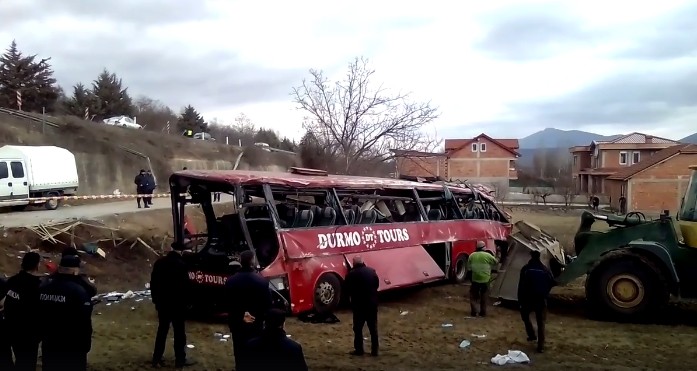
MULTIPOLYGON (((122 194, 135 193, 133 180, 140 169, 148 169, 148 162, 137 156, 132 159, 116 159, 107 155, 75 153, 77 171, 80 179, 80 195, 111 195, 118 189, 122 194)), ((199 160, 174 158, 168 160, 151 159, 152 169, 157 177, 159 189, 156 192, 169 192, 167 179, 173 171, 188 167, 191 170, 230 170, 232 161, 199 160)), ((256 166, 251 168, 244 157, 238 166, 240 170, 286 171, 285 167, 276 165, 256 166)))

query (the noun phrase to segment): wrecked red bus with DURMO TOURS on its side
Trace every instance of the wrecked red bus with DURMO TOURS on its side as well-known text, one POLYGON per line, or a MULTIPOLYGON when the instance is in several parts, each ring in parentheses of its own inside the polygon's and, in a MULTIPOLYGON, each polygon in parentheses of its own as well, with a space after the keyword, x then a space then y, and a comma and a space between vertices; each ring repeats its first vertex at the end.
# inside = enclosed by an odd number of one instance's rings
POLYGON ((462 282, 476 241, 497 253, 512 228, 490 196, 469 186, 300 168, 185 170, 169 181, 175 239, 193 245, 184 258, 194 302, 213 311, 221 309, 222 287, 244 250, 255 253, 261 274, 293 314, 327 312, 342 299, 355 255, 377 271, 381 291, 462 282), (232 205, 213 204, 214 192, 228 194, 232 205), (185 226, 189 204, 200 206, 205 233, 185 226))

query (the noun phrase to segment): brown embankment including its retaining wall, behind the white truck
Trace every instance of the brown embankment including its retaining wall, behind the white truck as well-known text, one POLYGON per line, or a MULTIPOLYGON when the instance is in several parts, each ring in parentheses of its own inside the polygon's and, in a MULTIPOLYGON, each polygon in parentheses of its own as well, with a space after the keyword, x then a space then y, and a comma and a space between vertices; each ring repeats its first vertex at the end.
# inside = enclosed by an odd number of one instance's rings
MULTIPOLYGON (((80 194, 111 194, 116 189, 133 193, 139 169, 151 168, 167 192, 172 171, 230 169, 243 150, 211 141, 108 126, 73 116, 46 117, 0 110, 0 145, 55 145, 75 154, 80 175, 80 194), (146 158, 147 157, 147 158, 146 158), (149 161, 148 161, 149 158, 149 161)), ((268 153, 256 147, 244 149, 240 169, 287 168, 295 157, 268 153)))

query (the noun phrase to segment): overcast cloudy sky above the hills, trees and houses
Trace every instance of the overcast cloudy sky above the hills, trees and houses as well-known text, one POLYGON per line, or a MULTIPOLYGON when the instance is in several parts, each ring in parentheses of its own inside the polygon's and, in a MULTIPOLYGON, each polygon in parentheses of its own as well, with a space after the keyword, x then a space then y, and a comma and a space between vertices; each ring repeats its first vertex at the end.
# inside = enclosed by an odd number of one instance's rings
POLYGON ((1 0, 0 19, 0 44, 52 57, 67 91, 106 67, 135 96, 296 138, 291 88, 358 55, 438 106, 440 137, 697 131, 697 1, 1 0))

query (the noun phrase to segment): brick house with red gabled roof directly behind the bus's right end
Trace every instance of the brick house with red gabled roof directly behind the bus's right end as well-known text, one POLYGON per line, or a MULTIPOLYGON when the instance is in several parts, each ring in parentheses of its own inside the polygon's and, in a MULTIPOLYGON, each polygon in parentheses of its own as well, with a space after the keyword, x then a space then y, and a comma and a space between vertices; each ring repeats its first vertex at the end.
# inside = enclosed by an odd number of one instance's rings
POLYGON ((480 134, 472 139, 446 139, 445 152, 393 151, 397 174, 442 177, 473 183, 508 185, 517 179, 518 139, 494 139, 480 134))

